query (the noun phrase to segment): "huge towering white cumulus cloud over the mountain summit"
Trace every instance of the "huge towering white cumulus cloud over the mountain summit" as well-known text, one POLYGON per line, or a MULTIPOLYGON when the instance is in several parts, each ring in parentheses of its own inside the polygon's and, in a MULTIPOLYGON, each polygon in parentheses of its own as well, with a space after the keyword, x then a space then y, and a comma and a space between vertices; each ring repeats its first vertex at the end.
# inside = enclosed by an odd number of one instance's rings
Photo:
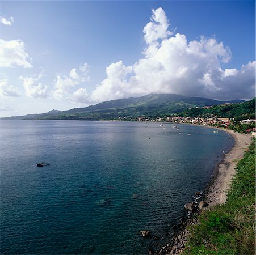
POLYGON ((187 41, 168 31, 162 8, 152 10, 144 27, 144 58, 131 66, 122 61, 106 68, 107 77, 91 94, 95 102, 155 93, 211 97, 219 100, 255 95, 256 62, 237 69, 222 69, 232 57, 229 47, 214 37, 187 41))

